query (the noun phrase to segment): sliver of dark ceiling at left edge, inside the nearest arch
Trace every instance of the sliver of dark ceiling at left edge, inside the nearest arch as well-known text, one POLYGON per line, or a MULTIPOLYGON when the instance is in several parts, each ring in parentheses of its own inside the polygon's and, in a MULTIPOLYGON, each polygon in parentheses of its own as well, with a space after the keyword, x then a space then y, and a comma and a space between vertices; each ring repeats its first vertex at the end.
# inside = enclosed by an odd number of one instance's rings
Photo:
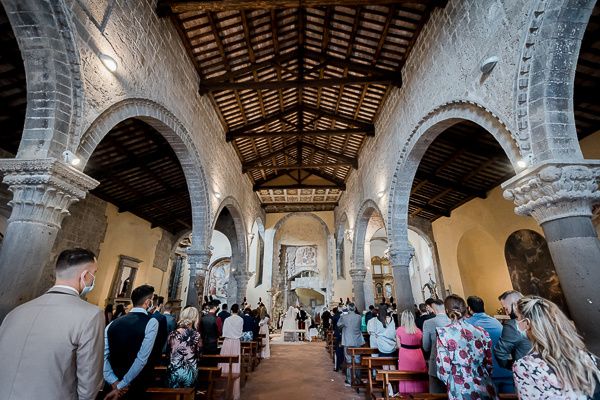
POLYGON ((0 148, 17 154, 27 109, 27 82, 19 45, 0 5, 0 148))

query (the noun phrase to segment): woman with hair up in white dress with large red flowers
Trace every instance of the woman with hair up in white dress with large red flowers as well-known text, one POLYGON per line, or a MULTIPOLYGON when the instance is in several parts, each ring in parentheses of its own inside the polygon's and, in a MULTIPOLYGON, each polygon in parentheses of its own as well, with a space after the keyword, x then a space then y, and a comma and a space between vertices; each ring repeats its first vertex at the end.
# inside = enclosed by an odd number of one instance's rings
POLYGON ((446 384, 449 400, 497 399, 492 383, 492 341, 490 335, 468 323, 467 305, 462 297, 444 300, 451 324, 437 328, 438 378, 446 384))

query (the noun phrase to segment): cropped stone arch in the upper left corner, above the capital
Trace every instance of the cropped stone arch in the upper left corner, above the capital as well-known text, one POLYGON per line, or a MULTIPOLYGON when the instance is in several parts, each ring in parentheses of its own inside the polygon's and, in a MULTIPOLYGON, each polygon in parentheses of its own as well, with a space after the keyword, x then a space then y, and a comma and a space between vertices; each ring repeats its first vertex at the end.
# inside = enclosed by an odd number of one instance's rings
POLYGON ((17 158, 61 159, 81 119, 83 85, 70 11, 63 0, 0 0, 19 43, 27 110, 17 158))

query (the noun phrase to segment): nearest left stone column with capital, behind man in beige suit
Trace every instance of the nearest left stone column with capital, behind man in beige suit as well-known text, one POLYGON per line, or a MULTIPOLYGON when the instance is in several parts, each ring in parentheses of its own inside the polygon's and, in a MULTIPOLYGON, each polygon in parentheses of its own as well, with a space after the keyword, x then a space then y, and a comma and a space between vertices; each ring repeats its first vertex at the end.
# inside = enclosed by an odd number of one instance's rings
POLYGON ((35 289, 69 206, 99 182, 55 158, 1 159, 13 193, 0 252, 0 320, 35 296, 35 289))

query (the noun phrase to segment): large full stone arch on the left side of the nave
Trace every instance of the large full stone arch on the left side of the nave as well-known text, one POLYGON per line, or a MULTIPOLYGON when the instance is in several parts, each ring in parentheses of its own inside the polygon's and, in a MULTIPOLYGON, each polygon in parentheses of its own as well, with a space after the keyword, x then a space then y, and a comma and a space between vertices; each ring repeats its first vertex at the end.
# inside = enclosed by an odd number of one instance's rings
POLYGON ((156 129, 171 145, 181 164, 192 205, 192 248, 207 249, 210 245, 208 189, 201 158, 191 135, 173 113, 152 100, 132 98, 113 104, 105 110, 83 134, 75 154, 81 158, 78 166, 85 168, 94 149, 121 121, 136 118, 156 129))

